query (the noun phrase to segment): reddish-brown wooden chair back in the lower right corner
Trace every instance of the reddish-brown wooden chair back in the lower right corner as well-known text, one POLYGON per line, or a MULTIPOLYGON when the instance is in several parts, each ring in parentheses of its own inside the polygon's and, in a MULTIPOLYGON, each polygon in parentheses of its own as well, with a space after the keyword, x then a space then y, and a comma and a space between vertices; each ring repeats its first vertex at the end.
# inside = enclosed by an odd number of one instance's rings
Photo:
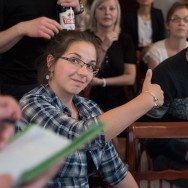
MULTIPOLYGON (((186 137, 188 137, 188 122, 135 122, 130 125, 128 127, 127 158, 129 171, 134 176, 138 185, 141 180, 147 180, 149 187, 152 180, 188 179, 188 170, 168 169, 154 171, 149 165, 149 169, 142 172, 141 152, 143 152, 143 149, 139 139, 186 137)), ((150 163, 151 159, 148 155, 146 156, 150 163)), ((160 187, 162 187, 162 185, 160 185, 160 187)))

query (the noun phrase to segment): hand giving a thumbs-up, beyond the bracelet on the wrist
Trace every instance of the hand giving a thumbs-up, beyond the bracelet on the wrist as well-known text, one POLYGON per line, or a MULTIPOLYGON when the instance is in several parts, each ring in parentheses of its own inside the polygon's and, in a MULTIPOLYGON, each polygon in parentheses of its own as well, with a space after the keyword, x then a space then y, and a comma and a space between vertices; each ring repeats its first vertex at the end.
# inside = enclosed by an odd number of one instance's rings
POLYGON ((152 70, 146 72, 142 87, 142 93, 148 93, 153 97, 154 106, 162 106, 164 103, 164 92, 158 84, 151 84, 152 70))

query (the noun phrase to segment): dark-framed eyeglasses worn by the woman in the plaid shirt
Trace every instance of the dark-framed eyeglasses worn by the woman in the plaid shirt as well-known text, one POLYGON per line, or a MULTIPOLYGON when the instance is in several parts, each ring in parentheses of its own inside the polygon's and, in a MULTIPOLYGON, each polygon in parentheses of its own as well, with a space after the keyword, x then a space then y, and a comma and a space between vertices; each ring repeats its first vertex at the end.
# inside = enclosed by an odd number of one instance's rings
POLYGON ((98 68, 96 68, 96 66, 94 64, 91 64, 91 63, 85 63, 84 61, 82 61, 81 59, 79 58, 76 58, 76 57, 60 57, 61 59, 64 59, 68 62, 70 62, 71 64, 81 68, 83 67, 84 65, 86 66, 88 72, 90 73, 93 73, 93 75, 96 75, 99 71, 98 68))

